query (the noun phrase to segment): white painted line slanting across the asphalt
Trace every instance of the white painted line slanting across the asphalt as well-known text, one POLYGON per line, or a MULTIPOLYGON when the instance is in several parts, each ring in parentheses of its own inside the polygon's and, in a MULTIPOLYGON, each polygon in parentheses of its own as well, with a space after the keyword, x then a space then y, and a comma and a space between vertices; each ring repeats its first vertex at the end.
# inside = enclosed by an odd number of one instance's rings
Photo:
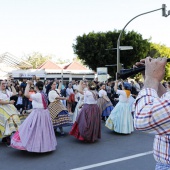
POLYGON ((152 153, 153 153, 153 151, 148 151, 148 152, 139 153, 139 154, 136 154, 136 155, 131 155, 131 156, 123 157, 123 158, 113 159, 113 160, 110 160, 110 161, 105 161, 105 162, 92 164, 92 165, 88 165, 88 166, 84 166, 84 167, 80 167, 80 168, 75 168, 75 169, 71 169, 71 170, 91 169, 91 168, 95 168, 95 167, 98 167, 98 166, 113 164, 113 163, 125 161, 125 160, 128 160, 128 159, 133 159, 133 158, 137 158, 137 157, 141 157, 141 156, 145 156, 145 155, 150 155, 152 153))

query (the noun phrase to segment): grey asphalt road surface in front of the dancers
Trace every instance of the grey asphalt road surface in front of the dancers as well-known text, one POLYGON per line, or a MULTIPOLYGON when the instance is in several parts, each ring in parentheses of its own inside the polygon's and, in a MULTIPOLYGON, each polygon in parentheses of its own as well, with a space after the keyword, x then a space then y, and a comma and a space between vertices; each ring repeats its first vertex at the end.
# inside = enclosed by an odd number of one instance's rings
MULTIPOLYGON (((80 167, 94 165, 90 170, 154 170, 152 153, 153 135, 135 131, 131 135, 116 134, 102 122, 102 138, 95 143, 84 143, 66 135, 57 137, 57 149, 51 153, 29 153, 6 147, 0 142, 0 170, 82 170, 80 167), (132 157, 131 157, 132 156, 132 157), (112 163, 106 164, 107 161, 112 163)), ((89 168, 87 168, 89 169, 89 168)))

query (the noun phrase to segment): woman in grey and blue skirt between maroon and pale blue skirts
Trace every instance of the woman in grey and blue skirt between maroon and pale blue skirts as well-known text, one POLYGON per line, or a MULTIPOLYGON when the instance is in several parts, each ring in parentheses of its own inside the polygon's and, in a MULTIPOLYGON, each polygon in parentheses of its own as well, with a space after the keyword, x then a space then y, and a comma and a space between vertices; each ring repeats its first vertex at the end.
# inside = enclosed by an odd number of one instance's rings
POLYGON ((108 98, 105 89, 106 89, 105 84, 101 83, 100 91, 99 91, 99 99, 97 100, 97 105, 99 106, 100 114, 102 116, 102 120, 104 121, 109 117, 111 111, 113 110, 113 104, 108 98))

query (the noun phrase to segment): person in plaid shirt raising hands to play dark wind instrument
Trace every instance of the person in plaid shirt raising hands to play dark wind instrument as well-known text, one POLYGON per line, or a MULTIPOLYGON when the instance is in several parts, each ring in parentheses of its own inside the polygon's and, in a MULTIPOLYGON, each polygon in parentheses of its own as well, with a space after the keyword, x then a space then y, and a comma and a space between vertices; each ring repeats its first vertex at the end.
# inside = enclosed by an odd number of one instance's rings
POLYGON ((170 169, 170 93, 162 85, 167 58, 141 60, 145 65, 144 88, 134 103, 134 126, 137 130, 155 134, 153 155, 156 170, 170 169))

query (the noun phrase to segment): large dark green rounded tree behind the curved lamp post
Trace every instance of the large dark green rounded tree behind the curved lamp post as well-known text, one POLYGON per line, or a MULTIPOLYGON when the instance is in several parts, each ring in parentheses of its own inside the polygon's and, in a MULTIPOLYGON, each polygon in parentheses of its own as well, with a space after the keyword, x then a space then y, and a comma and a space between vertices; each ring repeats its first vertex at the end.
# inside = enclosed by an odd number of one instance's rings
MULTIPOLYGON (((90 32, 76 38, 76 43, 73 44, 74 53, 89 66, 96 70, 97 67, 104 67, 108 64, 117 63, 116 50, 106 50, 117 47, 117 39, 120 31, 114 30, 109 32, 90 32)), ((141 58, 146 57, 150 43, 143 39, 141 34, 134 31, 124 32, 120 40, 121 46, 133 46, 133 50, 121 51, 120 62, 125 68, 130 68, 141 58)), ((109 67, 108 73, 112 76, 116 73, 116 67, 109 67)))

